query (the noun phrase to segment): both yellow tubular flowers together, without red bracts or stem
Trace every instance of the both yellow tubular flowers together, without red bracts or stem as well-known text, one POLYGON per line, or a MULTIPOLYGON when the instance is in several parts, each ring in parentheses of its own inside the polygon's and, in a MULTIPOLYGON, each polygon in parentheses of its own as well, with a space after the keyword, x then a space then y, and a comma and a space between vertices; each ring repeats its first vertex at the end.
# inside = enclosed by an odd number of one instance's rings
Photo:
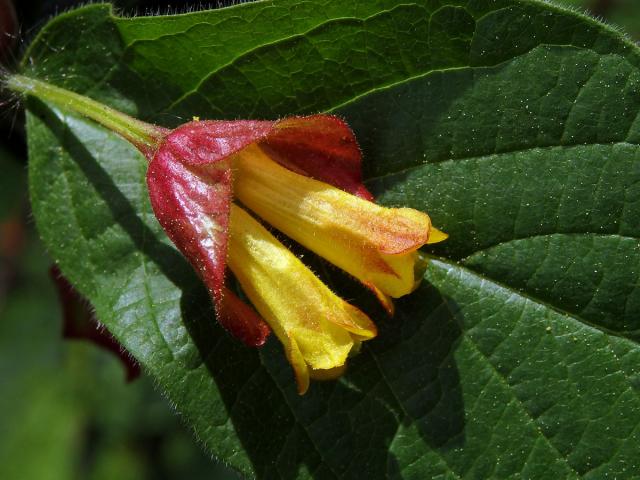
MULTIPOLYGON (((234 158, 234 193, 288 237, 389 297, 414 290, 417 249, 446 236, 429 217, 390 209, 294 173, 251 145, 234 158)), ((231 211, 228 264, 283 343, 299 393, 309 379, 339 376, 349 354, 376 335, 375 324, 336 296, 245 210, 231 211)))

